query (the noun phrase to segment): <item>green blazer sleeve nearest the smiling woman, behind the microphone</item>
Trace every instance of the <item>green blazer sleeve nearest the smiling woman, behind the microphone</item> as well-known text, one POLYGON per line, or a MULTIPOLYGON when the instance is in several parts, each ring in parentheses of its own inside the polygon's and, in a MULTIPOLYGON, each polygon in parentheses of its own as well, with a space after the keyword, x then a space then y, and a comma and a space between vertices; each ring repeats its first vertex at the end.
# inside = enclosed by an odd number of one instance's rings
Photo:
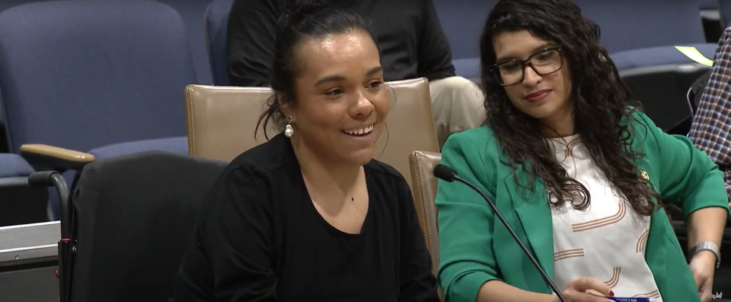
MULTIPOLYGON (((442 164, 495 197, 495 164, 485 127, 450 136, 442 164)), ((482 284, 499 279, 493 254, 494 215, 485 200, 457 181, 439 180, 436 193, 439 226, 439 282, 447 302, 474 302, 482 284)))

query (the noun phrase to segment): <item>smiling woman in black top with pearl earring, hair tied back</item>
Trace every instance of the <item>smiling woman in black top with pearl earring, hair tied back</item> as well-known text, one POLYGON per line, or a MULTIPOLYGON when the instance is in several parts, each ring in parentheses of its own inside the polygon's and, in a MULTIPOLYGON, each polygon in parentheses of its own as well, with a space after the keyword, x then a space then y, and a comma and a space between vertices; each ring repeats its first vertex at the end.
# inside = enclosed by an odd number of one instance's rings
POLYGON ((391 102, 357 15, 280 22, 270 107, 284 128, 211 191, 175 301, 439 301, 409 186, 372 159, 391 102))

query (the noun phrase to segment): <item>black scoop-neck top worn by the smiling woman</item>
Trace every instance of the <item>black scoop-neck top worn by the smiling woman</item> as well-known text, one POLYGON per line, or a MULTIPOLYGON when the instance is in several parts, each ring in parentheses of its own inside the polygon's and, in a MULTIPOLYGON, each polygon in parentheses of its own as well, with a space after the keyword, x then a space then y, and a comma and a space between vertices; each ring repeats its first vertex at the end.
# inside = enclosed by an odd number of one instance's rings
POLYGON ((328 224, 283 135, 238 156, 211 189, 175 281, 175 302, 439 301, 411 192, 365 166, 360 234, 328 224))

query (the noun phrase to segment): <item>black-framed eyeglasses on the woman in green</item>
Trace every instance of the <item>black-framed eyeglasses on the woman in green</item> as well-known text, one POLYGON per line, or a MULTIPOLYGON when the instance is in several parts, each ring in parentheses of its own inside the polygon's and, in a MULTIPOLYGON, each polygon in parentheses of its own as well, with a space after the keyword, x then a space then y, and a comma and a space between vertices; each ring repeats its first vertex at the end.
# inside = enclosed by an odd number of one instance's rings
POLYGON ((537 75, 550 75, 561 69, 563 64, 561 46, 554 46, 540 50, 525 60, 514 58, 510 61, 495 64, 491 70, 500 85, 512 86, 523 82, 523 79, 526 78, 526 67, 531 67, 537 75))

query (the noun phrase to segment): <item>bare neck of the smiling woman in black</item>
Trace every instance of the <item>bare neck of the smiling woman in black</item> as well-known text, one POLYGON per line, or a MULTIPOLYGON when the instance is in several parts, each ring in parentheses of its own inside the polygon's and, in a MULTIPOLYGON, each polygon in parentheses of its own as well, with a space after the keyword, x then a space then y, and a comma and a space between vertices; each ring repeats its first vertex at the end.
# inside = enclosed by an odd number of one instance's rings
POLYGON ((302 175, 310 186, 314 186, 312 189, 327 192, 333 189, 333 184, 336 184, 341 193, 349 194, 360 175, 362 166, 324 158, 302 140, 295 137, 290 139, 302 175))

